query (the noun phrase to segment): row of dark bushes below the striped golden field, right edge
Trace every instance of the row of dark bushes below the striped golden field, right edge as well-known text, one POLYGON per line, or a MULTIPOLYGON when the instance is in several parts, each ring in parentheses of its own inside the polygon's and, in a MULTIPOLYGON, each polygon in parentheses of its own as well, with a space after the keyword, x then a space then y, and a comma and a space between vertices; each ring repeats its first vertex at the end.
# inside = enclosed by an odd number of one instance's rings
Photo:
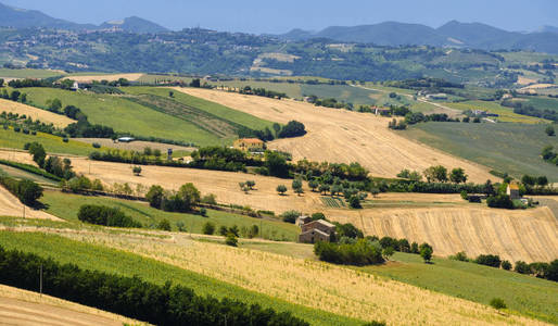
POLYGON ((496 254, 480 254, 475 259, 469 259, 462 251, 456 253, 455 255, 451 255, 449 259, 481 264, 495 268, 502 267, 506 271, 513 271, 519 274, 534 275, 538 278, 558 281, 558 260, 554 260, 550 263, 535 262, 531 264, 528 264, 523 261, 517 261, 512 265, 509 261, 502 260, 499 255, 496 254))

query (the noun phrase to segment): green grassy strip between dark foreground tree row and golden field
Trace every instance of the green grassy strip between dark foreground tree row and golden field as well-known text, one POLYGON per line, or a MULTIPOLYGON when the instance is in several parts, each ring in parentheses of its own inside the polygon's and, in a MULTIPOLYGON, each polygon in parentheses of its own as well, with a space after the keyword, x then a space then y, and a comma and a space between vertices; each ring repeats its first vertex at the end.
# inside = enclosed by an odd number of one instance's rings
POLYGON ((357 321, 331 313, 295 305, 286 301, 242 289, 198 273, 185 271, 151 259, 100 246, 86 244, 59 236, 38 233, 0 231, 0 244, 7 249, 18 249, 51 256, 62 263, 74 263, 83 268, 104 271, 125 276, 138 275, 148 281, 163 285, 167 280, 192 288, 198 294, 217 298, 228 297, 278 311, 291 311, 315 325, 358 325, 357 321))

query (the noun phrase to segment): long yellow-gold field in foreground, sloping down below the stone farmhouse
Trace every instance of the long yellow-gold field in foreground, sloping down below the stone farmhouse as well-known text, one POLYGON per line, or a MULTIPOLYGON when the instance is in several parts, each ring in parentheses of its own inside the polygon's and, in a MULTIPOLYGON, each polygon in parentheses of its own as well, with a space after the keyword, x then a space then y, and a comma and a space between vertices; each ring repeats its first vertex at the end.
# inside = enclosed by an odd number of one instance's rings
POLYGON ((302 305, 389 325, 536 325, 478 303, 321 262, 257 250, 110 234, 62 234, 152 258, 302 305))

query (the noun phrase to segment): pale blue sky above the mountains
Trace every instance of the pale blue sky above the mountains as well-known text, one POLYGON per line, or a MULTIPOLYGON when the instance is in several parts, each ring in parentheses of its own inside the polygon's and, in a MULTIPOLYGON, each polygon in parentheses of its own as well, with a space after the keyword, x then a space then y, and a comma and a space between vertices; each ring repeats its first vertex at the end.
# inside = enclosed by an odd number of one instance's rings
POLYGON ((0 0, 75 23, 140 16, 170 29, 281 34, 385 21, 439 27, 457 20, 516 32, 558 26, 557 0, 0 0))

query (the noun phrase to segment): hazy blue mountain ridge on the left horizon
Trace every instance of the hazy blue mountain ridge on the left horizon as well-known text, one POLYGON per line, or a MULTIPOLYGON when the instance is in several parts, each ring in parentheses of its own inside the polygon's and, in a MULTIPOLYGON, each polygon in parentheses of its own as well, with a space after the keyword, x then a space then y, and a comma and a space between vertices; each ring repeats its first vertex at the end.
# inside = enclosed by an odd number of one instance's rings
POLYGON ((77 24, 51 17, 40 11, 25 10, 0 3, 0 26, 15 28, 47 27, 69 30, 99 30, 118 28, 129 33, 165 33, 169 29, 140 17, 128 17, 124 21, 113 21, 101 24, 77 24))

